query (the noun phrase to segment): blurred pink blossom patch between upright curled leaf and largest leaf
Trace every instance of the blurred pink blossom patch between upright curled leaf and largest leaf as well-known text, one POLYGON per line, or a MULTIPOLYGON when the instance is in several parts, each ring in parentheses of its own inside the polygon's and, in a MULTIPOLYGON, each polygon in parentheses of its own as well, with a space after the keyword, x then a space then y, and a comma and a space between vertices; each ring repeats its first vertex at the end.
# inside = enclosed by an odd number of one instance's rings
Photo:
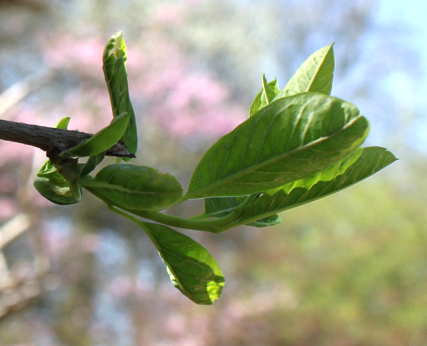
POLYGON ((195 71, 176 45, 161 36, 156 39, 146 43, 152 49, 128 50, 131 98, 147 101, 144 114, 175 138, 218 137, 246 119, 224 83, 208 72, 195 71), (133 65, 134 55, 144 64, 133 65))

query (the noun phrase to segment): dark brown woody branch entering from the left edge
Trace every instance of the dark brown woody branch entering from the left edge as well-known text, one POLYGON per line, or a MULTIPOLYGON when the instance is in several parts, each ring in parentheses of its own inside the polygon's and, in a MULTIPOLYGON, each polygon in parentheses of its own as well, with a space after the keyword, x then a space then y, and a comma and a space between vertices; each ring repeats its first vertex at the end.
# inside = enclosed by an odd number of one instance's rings
MULTIPOLYGON (((47 153, 67 150, 90 137, 92 134, 76 130, 62 130, 0 120, 0 139, 31 145, 47 153)), ((106 155, 135 157, 122 142, 118 142, 108 149, 106 155)))

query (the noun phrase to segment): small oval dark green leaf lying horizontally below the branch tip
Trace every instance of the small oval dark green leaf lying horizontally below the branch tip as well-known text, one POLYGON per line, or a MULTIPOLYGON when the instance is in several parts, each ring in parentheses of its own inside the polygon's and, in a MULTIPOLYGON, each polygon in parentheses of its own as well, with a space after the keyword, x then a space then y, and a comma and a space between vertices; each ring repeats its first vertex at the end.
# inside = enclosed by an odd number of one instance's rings
POLYGON ((117 206, 132 210, 165 209, 179 201, 183 193, 181 184, 173 175, 130 164, 107 166, 95 178, 86 176, 78 182, 117 206))

